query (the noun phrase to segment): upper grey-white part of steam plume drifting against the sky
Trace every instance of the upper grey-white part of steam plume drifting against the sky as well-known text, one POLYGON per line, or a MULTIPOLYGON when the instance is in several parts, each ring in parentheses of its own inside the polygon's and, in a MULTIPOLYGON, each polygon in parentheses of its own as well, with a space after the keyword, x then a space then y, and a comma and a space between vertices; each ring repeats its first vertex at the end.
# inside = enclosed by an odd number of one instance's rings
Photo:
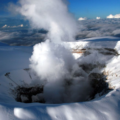
POLYGON ((48 30, 48 38, 54 42, 73 41, 78 31, 63 0, 20 0, 15 9, 30 21, 32 28, 48 30))

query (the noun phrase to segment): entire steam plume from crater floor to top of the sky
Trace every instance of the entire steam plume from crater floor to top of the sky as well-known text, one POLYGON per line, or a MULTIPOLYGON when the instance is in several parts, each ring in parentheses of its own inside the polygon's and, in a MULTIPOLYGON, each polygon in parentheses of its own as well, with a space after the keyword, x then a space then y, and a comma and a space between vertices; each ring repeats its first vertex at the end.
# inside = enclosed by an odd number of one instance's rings
POLYGON ((30 21, 32 28, 48 30, 49 40, 35 45, 30 58, 30 68, 44 83, 45 101, 62 103, 86 100, 89 93, 86 90, 89 86, 86 74, 79 68, 70 49, 61 43, 75 40, 78 31, 77 22, 68 12, 66 1, 20 0, 15 9, 30 21))

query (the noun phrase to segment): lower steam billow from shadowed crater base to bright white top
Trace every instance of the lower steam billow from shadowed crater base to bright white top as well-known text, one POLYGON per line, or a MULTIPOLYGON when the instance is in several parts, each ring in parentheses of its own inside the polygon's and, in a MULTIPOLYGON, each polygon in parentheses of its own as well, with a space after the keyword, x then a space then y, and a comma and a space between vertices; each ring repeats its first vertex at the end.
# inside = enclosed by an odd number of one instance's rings
POLYGON ((44 85, 44 98, 47 103, 84 101, 88 98, 87 89, 90 89, 90 86, 87 84, 86 74, 82 73, 65 45, 50 41, 37 44, 30 62, 30 68, 44 85))

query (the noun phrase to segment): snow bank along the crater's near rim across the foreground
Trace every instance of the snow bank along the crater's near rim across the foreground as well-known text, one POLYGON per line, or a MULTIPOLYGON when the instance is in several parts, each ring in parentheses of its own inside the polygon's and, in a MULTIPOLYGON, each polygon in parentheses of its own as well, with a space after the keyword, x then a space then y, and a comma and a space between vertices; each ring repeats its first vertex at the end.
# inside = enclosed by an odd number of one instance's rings
POLYGON ((116 89, 107 97, 83 103, 62 105, 20 104, 0 106, 0 115, 6 120, 119 120, 120 90, 116 89), (7 115, 6 115, 7 114, 7 115))

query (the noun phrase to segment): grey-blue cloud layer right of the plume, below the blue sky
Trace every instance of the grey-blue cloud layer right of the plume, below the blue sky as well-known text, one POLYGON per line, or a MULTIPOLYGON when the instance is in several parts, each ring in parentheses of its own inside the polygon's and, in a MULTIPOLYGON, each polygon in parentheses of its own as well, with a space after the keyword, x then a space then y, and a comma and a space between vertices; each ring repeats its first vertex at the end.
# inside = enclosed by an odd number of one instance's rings
POLYGON ((77 39, 105 36, 120 37, 120 19, 88 19, 79 23, 82 27, 76 37, 77 39))

